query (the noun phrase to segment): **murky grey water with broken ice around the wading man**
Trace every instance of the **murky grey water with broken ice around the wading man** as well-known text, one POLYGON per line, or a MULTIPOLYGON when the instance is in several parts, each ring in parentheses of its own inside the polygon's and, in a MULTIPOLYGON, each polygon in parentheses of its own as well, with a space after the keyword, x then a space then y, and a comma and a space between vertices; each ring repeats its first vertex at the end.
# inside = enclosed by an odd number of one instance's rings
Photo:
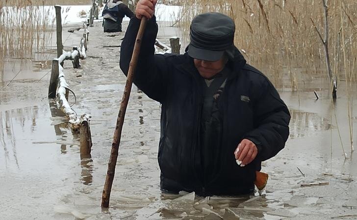
MULTIPOLYGON (((161 24, 158 38, 168 43, 167 36, 179 33, 165 25, 161 24)), ((65 73, 77 95, 73 108, 92 116, 91 158, 80 157, 78 136, 68 128, 56 103, 47 99, 49 76, 0 85, 1 220, 357 219, 357 162, 349 146, 347 99, 341 95, 332 103, 328 90, 322 89, 315 100, 311 90, 320 86, 313 83, 299 93, 280 90, 292 114, 290 138, 277 157, 263 163, 262 171, 270 175, 263 196, 238 198, 160 192, 156 159, 160 106, 133 86, 110 208, 102 210, 102 189, 126 81, 118 66, 120 47, 112 46, 120 45, 124 33, 103 34, 101 23, 90 31, 82 69, 74 70, 66 61, 65 73), (301 187, 316 183, 323 186, 301 187)), ((70 35, 65 47, 77 42, 81 33, 70 35)), ((41 71, 45 74, 48 69, 41 71)), ((343 84, 339 94, 345 94, 343 84)), ((354 109, 356 103, 355 97, 354 109)), ((356 128, 356 113, 353 118, 356 128)))

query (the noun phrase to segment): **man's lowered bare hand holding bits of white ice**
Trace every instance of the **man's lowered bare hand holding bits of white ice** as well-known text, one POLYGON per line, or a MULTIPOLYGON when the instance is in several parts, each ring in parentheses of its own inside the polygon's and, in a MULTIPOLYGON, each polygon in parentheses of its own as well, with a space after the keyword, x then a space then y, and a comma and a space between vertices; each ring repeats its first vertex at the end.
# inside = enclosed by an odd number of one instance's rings
POLYGON ((248 139, 243 139, 234 151, 235 160, 241 162, 240 166, 250 164, 255 159, 257 154, 258 148, 256 148, 255 144, 248 139))

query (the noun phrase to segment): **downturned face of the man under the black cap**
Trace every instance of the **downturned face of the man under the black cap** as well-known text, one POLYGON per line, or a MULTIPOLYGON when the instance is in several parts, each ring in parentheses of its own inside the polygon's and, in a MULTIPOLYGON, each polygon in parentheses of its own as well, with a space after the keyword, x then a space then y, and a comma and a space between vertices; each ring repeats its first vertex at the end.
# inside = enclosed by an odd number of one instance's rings
POLYGON ((206 61, 202 59, 194 59, 195 66, 204 79, 211 79, 217 73, 221 72, 227 63, 227 59, 223 56, 217 61, 206 61))

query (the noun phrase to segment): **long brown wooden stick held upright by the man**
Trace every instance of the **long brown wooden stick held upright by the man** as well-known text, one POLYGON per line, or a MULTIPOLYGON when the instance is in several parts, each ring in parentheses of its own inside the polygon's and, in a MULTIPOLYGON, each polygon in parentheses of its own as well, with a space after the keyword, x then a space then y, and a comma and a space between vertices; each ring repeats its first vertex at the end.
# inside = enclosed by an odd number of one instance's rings
POLYGON ((142 41, 144 30, 146 27, 146 22, 147 22, 147 19, 145 17, 143 17, 141 19, 138 35, 136 36, 134 51, 131 56, 131 61, 130 61, 129 70, 128 70, 127 83, 125 85, 122 103, 120 104, 120 110, 119 110, 119 114, 118 114, 118 118, 117 118, 117 125, 115 127, 114 138, 113 138, 113 143, 112 143, 111 152, 110 152, 108 171, 106 173, 106 178, 105 178, 105 184, 104 184, 104 189, 103 189, 103 194, 102 194, 102 208, 109 207, 110 192, 111 192, 111 188, 113 185, 113 179, 114 179, 114 174, 115 174, 115 165, 117 164, 119 144, 120 144, 120 138, 122 136, 125 112, 127 111, 127 106, 128 106, 128 101, 129 101, 129 96, 130 96, 130 91, 131 91, 131 85, 132 85, 132 81, 134 78, 134 72, 136 69, 136 64, 137 64, 139 53, 140 53, 141 41, 142 41))

